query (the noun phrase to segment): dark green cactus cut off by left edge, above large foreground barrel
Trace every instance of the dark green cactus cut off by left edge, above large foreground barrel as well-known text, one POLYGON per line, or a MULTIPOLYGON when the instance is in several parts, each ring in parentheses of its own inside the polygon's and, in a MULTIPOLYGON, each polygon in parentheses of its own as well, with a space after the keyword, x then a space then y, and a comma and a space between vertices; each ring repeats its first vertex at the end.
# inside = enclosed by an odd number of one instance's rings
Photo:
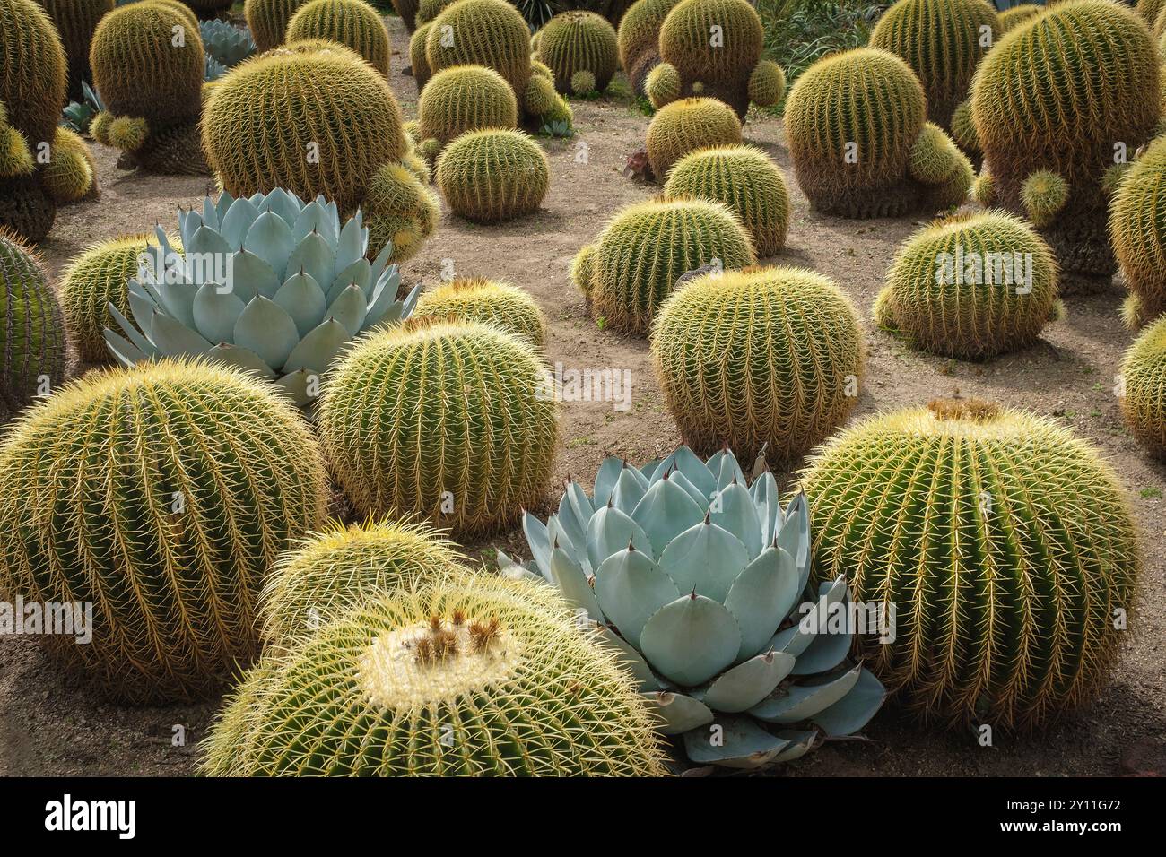
POLYGON ((56 389, 65 374, 65 330, 36 253, 0 230, 0 420, 56 389))

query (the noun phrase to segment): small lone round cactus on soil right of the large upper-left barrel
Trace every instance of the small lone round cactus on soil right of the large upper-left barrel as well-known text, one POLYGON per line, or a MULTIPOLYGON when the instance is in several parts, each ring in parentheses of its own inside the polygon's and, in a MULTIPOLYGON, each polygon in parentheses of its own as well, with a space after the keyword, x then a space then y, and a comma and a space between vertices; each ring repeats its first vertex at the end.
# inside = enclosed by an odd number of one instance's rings
POLYGON ((471 131, 445 147, 436 180, 457 216, 501 223, 539 210, 550 167, 539 143, 521 131, 471 131))

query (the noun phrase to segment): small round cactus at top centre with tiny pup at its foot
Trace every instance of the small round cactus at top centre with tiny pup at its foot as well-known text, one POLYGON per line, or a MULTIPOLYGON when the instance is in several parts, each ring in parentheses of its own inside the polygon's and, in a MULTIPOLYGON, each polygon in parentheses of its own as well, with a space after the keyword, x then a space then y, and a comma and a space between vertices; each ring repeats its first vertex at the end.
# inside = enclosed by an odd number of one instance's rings
POLYGON ((554 73, 555 89, 563 93, 585 96, 607 89, 617 54, 616 28, 593 12, 560 13, 539 30, 538 56, 554 73))

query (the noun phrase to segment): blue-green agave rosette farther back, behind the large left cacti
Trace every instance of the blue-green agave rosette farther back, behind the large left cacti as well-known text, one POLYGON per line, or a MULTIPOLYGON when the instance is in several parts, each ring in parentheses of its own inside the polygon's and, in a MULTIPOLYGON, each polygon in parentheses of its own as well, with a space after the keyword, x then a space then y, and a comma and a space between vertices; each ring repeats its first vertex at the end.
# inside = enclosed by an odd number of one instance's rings
POLYGON ((420 287, 396 300, 392 244, 370 262, 360 211, 342 225, 323 197, 206 197, 201 211, 180 212, 178 232, 181 253, 157 227, 129 280, 133 322, 108 304, 121 333, 106 329, 105 342, 127 366, 202 354, 258 372, 307 406, 349 342, 416 305, 420 287))

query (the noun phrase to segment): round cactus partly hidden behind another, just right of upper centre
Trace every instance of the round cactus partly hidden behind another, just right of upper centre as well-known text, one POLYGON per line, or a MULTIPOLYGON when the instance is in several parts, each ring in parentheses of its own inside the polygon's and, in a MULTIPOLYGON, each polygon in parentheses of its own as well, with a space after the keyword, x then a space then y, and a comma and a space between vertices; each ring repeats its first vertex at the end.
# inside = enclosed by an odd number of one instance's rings
POLYGON ((760 149, 697 149, 676 162, 663 189, 670 197, 704 197, 728 205, 752 234, 758 257, 775 255, 786 245, 789 191, 781 170, 760 149))

